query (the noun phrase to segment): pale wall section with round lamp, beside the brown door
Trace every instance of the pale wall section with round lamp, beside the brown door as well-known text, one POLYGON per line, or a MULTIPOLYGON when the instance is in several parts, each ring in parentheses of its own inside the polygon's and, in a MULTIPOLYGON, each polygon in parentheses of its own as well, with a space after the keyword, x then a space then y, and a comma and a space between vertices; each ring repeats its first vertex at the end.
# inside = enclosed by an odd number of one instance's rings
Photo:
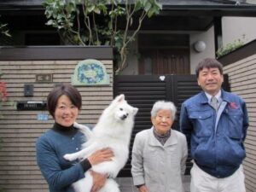
POLYGON ((195 67, 206 57, 215 57, 214 44, 214 26, 209 28, 206 32, 190 32, 190 73, 195 74, 195 67), (198 53, 193 48, 196 41, 204 41, 207 47, 201 53, 198 53))

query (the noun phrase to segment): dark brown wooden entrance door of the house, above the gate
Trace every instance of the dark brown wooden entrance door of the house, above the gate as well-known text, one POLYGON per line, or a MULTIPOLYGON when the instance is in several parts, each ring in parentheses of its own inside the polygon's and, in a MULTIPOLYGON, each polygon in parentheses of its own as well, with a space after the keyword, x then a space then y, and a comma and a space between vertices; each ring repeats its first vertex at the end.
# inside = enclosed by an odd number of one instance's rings
POLYGON ((189 74, 189 36, 141 34, 139 74, 189 74))

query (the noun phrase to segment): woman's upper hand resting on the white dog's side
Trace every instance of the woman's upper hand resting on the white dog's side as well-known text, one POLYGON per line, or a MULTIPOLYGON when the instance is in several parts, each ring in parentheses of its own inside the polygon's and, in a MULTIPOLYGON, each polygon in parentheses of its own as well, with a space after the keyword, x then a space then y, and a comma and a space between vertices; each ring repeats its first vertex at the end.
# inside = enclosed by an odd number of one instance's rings
POLYGON ((90 154, 90 156, 87 158, 90 162, 90 165, 96 165, 98 163, 102 163, 104 161, 112 160, 113 157, 113 151, 109 148, 103 148, 101 150, 97 150, 93 154, 90 154))

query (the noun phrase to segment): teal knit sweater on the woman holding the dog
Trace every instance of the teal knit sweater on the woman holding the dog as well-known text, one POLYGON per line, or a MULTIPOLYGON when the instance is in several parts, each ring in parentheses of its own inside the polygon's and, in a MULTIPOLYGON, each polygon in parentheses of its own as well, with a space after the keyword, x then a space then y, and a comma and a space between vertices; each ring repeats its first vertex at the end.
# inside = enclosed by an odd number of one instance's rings
POLYGON ((55 123, 52 129, 38 138, 37 160, 50 192, 74 192, 71 184, 84 177, 90 162, 69 162, 64 154, 77 152, 85 142, 84 135, 75 127, 62 127, 55 123))

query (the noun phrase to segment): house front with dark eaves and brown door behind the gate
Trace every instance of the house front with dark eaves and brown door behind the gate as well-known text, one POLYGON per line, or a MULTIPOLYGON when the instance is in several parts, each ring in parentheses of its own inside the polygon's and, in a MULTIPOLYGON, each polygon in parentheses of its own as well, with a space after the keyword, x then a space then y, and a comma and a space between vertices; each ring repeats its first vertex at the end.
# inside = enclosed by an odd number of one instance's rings
MULTIPOLYGON (((8 23, 12 34, 5 45, 63 44, 55 29, 45 25, 43 2, 0 2, 0 20, 8 23)), ((218 48, 238 39, 246 44, 256 38, 253 0, 159 2, 160 14, 143 21, 131 44, 129 65, 121 74, 194 73, 198 61, 215 57, 218 48)))

